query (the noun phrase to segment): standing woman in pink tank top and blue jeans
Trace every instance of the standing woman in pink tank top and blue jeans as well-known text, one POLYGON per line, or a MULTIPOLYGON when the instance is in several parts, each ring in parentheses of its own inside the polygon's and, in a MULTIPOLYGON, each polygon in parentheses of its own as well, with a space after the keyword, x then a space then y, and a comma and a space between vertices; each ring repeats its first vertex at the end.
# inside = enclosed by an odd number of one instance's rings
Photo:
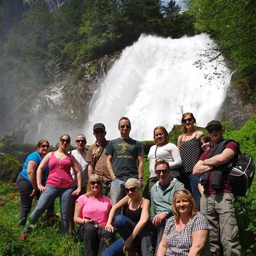
POLYGON ((58 142, 59 147, 57 151, 48 153, 38 166, 36 180, 41 196, 30 215, 30 221, 27 222, 25 232, 31 230, 30 223, 35 225, 49 205, 59 197, 61 207, 60 230, 63 234, 68 233, 72 196, 77 196, 80 193, 81 174, 76 159, 68 153, 70 136, 62 134, 58 142), (46 186, 43 186, 41 177, 47 164, 49 164, 49 175, 46 186), (73 167, 77 175, 78 187, 76 190, 74 190, 74 181, 70 173, 71 167, 73 167))

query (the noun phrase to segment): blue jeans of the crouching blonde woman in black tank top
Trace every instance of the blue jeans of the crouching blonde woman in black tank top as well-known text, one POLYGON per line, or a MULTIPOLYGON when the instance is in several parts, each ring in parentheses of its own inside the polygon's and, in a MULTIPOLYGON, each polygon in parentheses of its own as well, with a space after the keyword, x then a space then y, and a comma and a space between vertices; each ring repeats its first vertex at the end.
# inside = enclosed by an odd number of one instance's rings
MULTIPOLYGON (((126 216, 118 215, 115 218, 115 227, 117 228, 117 231, 120 233, 122 238, 118 239, 108 249, 106 249, 102 253, 102 256, 123 255, 122 251, 123 251, 124 241, 130 237, 135 226, 136 224, 126 216)), ((134 242, 136 243, 138 248, 141 248, 141 253, 139 253, 139 255, 142 255, 142 256, 153 255, 149 224, 147 224, 140 231, 138 236, 135 238, 134 242)))

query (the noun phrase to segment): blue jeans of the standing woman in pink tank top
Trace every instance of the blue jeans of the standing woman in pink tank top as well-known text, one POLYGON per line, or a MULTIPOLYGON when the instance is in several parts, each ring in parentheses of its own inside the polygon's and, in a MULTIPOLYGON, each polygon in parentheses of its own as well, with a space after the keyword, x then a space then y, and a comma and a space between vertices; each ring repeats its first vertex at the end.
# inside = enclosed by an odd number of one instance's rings
MULTIPOLYGON (((48 188, 46 193, 42 193, 35 209, 30 215, 30 220, 33 225, 35 225, 41 215, 45 212, 45 210, 51 205, 51 203, 59 197, 60 199, 60 212, 61 212, 61 222, 60 222, 60 230, 62 233, 66 234, 69 231, 69 220, 70 220, 70 207, 72 202, 72 188, 59 188, 53 186, 46 186, 48 188)), ((27 225, 25 228, 25 232, 29 231, 30 221, 27 221, 27 225)))

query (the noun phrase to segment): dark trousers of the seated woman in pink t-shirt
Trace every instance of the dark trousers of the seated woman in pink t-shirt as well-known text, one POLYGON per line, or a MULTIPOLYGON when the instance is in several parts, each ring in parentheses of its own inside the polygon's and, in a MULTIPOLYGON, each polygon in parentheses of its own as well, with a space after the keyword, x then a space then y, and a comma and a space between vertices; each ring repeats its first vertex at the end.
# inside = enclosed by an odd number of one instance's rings
POLYGON ((95 228, 93 224, 84 224, 78 228, 77 236, 83 242, 85 255, 97 256, 105 249, 106 240, 112 240, 113 233, 104 227, 95 228))

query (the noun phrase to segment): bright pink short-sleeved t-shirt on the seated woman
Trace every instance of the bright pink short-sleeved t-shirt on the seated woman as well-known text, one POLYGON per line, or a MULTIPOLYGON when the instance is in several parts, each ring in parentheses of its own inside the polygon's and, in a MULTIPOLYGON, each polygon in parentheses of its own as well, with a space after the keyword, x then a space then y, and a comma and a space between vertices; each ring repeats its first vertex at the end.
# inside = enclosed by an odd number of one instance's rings
POLYGON ((95 219, 101 227, 106 225, 112 207, 112 202, 108 197, 92 198, 82 195, 76 200, 76 203, 82 206, 81 218, 95 219))

